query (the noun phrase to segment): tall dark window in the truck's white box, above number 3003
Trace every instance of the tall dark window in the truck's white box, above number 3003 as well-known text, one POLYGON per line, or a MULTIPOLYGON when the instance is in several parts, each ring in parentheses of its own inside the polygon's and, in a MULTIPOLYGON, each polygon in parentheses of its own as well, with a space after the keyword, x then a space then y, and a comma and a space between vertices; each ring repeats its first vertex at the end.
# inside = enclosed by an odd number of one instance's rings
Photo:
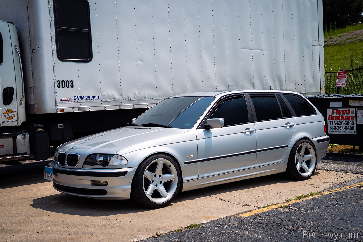
POLYGON ((57 57, 61 61, 92 60, 90 6, 86 0, 53 0, 57 57))

